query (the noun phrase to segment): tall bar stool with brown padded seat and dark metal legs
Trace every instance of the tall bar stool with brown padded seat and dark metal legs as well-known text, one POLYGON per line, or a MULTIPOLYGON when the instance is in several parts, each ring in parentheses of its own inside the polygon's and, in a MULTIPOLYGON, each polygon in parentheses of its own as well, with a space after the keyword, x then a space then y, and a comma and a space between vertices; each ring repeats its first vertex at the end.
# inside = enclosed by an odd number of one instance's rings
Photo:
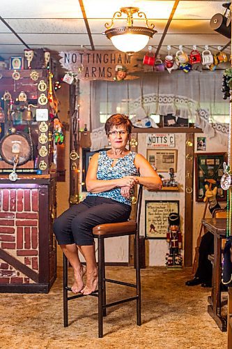
MULTIPOLYGON (((107 315, 107 308, 116 306, 125 302, 136 300, 137 302, 137 325, 141 325, 141 281, 140 281, 140 263, 139 263, 139 223, 141 214, 141 201, 143 194, 143 186, 139 185, 139 193, 137 197, 136 221, 126 221, 122 223, 100 224, 93 228, 93 236, 98 239, 98 290, 91 293, 90 296, 98 297, 98 337, 103 336, 103 316, 107 315), (105 239, 108 237, 122 237, 125 235, 134 235, 134 260, 136 281, 135 283, 126 283, 125 281, 117 281, 106 279, 105 277, 105 239), (117 283, 130 288, 136 288, 136 295, 117 302, 106 302, 106 283, 117 283)), ((68 301, 85 295, 68 296, 68 291, 72 291, 68 287, 68 259, 63 255, 63 322, 64 327, 68 327, 68 301)))

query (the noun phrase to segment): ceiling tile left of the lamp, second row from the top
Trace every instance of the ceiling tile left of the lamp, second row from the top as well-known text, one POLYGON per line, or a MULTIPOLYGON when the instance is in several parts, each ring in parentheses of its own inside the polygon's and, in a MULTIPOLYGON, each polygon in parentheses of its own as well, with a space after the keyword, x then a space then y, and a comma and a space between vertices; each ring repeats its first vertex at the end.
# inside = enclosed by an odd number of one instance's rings
POLYGON ((81 33, 86 34, 83 19, 17 19, 6 20, 17 34, 22 33, 81 33))

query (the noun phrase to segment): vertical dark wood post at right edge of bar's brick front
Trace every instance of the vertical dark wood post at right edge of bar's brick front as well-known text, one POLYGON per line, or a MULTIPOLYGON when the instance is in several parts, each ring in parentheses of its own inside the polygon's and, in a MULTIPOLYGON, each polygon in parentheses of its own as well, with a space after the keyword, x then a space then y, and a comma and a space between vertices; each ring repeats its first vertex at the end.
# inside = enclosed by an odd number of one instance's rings
POLYGON ((39 283, 49 283, 49 186, 40 186, 38 190, 39 208, 39 283))

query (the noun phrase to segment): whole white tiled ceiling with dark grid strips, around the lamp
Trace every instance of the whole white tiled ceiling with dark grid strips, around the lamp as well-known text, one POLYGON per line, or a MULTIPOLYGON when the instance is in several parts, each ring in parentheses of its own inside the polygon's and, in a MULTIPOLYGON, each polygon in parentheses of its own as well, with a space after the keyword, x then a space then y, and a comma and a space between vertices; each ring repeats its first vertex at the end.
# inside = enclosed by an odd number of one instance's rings
MULTIPOLYGON (((215 13, 223 13, 225 1, 130 1, 130 0, 1 0, 0 8, 0 56, 8 59, 12 55, 24 54, 24 49, 44 47, 52 53, 67 50, 115 50, 102 35, 105 22, 110 22, 114 12, 123 6, 137 6, 146 13, 148 22, 155 24, 157 34, 149 45, 160 54, 171 53, 179 45, 189 53, 196 45, 199 51, 226 47, 231 52, 230 40, 210 29, 210 19, 215 13), (10 6, 9 6, 10 3, 10 6), (173 6, 177 5, 167 34, 167 27, 173 6), (9 26, 9 27, 8 27, 9 26), (161 41, 160 41, 161 40, 161 41)), ((125 23, 118 19, 115 26, 125 23)), ((134 20, 145 25, 144 20, 134 20)), ((145 48, 144 50, 147 50, 145 48)))

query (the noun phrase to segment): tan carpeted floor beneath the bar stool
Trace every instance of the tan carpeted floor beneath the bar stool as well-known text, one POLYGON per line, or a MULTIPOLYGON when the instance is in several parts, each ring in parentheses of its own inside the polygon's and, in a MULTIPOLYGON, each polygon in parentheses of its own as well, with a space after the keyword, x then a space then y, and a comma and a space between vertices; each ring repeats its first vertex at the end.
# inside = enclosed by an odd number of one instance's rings
MULTIPOLYGON (((135 302, 115 306, 104 322, 104 338, 98 339, 98 305, 95 297, 69 302, 70 326, 63 327, 61 270, 48 295, 1 294, 1 349, 225 349, 222 333, 207 312, 210 289, 185 286, 190 269, 141 270, 142 325, 136 325, 135 302)), ((133 281, 134 269, 107 267, 107 276, 133 281)), ((127 291, 109 285, 111 302, 127 291)), ((226 311, 226 309, 225 309, 226 311)))

